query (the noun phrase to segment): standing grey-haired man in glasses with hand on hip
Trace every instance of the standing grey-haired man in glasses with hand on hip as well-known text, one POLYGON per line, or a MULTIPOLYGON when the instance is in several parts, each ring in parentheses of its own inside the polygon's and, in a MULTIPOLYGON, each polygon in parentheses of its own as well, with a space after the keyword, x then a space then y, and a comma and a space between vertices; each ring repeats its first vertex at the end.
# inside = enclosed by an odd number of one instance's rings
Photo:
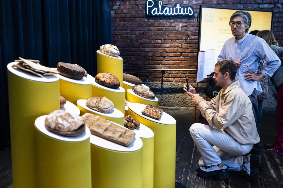
MULTIPOLYGON (((235 80, 239 80, 240 87, 252 102, 254 118, 258 117, 257 96, 262 92, 260 80, 271 77, 281 62, 278 56, 260 37, 248 34, 252 24, 252 17, 243 10, 236 11, 230 18, 231 32, 234 37, 228 39, 218 56, 218 61, 233 60, 237 66, 235 80), (260 65, 260 60, 266 61, 266 68, 258 76, 255 73, 260 65)), ((259 125, 256 121, 259 131, 259 125)))

